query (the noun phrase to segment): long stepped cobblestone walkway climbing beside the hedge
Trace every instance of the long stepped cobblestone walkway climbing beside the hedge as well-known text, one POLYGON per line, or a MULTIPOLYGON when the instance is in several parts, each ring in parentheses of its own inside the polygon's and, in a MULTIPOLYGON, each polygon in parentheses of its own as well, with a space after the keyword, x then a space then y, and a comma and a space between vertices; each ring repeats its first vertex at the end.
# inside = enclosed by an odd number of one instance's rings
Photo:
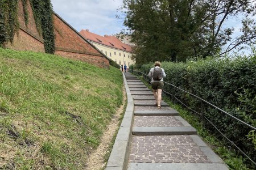
POLYGON ((164 101, 158 109, 152 92, 134 75, 125 73, 125 80, 134 103, 128 170, 228 169, 175 109, 164 101))

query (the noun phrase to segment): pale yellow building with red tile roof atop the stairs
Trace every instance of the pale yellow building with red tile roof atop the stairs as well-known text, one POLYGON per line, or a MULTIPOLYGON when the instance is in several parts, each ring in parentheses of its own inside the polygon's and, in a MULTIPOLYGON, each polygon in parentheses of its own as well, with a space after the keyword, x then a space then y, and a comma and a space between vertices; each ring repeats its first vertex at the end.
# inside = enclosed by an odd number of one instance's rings
POLYGON ((124 44, 117 37, 108 35, 103 37, 89 32, 88 29, 82 29, 79 33, 120 66, 126 65, 129 68, 130 65, 135 64, 135 61, 131 59, 131 45, 124 44))

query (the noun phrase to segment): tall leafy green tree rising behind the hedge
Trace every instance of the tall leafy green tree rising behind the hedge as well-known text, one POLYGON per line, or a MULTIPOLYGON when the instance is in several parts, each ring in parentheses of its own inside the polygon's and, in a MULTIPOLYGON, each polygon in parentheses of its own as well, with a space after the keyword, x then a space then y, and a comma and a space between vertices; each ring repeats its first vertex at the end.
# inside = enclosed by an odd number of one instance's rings
POLYGON ((222 53, 255 41, 255 22, 248 17, 255 15, 253 4, 253 0, 123 0, 121 11, 126 33, 137 44, 134 57, 142 64, 220 53, 234 31, 224 27, 230 16, 245 15, 243 34, 222 53))

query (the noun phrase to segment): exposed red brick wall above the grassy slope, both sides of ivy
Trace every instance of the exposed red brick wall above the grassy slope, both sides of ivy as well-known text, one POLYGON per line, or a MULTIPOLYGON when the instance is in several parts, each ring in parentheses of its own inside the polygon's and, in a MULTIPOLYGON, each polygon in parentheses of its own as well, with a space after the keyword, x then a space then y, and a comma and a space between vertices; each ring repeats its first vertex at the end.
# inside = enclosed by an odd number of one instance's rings
MULTIPOLYGON (((1 1, 1 0, 0 0, 1 1)), ((44 52, 42 35, 36 28, 30 1, 27 0, 28 24, 24 20, 22 1, 18 1, 19 32, 15 34, 14 41, 7 43, 6 48, 15 50, 31 50, 44 52)), ((72 58, 88 62, 98 67, 109 67, 109 60, 96 48, 82 39, 75 30, 64 22, 59 16, 53 15, 55 28, 55 54, 66 58, 72 58)))

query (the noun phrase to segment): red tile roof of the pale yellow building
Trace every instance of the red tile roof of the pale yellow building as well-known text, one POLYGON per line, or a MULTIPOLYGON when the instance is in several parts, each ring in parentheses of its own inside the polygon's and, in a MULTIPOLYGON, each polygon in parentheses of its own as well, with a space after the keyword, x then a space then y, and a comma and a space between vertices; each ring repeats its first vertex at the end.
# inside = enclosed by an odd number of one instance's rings
POLYGON ((124 44, 119 39, 117 39, 117 37, 115 37, 115 36, 104 35, 104 37, 102 37, 95 33, 89 32, 88 29, 86 29, 86 30, 82 29, 79 33, 83 37, 85 37, 85 39, 97 42, 98 44, 106 45, 106 46, 109 46, 112 48, 117 48, 120 50, 125 50, 126 52, 130 52, 130 53, 132 51, 130 45, 124 44))

